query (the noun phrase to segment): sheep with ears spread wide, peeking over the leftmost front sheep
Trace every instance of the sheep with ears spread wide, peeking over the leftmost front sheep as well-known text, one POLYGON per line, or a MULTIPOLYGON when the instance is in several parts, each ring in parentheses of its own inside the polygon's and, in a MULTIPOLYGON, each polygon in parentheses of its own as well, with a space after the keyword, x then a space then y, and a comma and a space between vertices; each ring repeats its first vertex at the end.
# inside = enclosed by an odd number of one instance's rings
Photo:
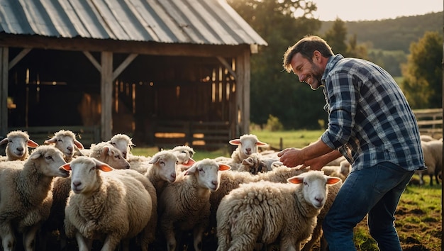
POLYGON ((63 152, 65 161, 70 162, 74 157, 75 150, 84 149, 82 143, 76 139, 76 135, 70 130, 59 130, 54 133, 52 138, 45 140, 45 145, 54 144, 54 146, 63 152))

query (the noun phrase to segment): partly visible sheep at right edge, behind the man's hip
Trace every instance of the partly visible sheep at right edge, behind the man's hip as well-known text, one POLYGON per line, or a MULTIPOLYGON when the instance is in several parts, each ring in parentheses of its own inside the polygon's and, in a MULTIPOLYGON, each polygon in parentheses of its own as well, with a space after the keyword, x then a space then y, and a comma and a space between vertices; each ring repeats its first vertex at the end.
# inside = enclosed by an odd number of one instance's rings
POLYGON ((430 176, 431 186, 433 186, 433 178, 439 184, 438 174, 443 170, 443 140, 421 141, 421 147, 427 169, 417 171, 419 184, 424 184, 423 174, 430 176))

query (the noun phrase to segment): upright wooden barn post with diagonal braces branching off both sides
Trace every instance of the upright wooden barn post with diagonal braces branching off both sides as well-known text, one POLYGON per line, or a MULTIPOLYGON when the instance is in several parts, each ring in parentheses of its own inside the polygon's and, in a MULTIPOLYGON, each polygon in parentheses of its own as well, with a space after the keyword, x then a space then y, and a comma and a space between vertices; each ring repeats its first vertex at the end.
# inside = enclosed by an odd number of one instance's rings
POLYGON ((101 52, 101 140, 111 139, 113 131, 113 52, 101 52))

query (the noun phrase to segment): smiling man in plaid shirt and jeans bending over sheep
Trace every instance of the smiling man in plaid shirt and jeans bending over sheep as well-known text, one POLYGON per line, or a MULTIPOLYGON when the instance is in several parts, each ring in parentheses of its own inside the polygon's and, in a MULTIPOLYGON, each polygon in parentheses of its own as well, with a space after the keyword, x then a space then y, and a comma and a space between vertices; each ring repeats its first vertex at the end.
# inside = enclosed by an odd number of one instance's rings
POLYGON ((333 55, 326 41, 313 35, 284 53, 283 66, 311 89, 323 87, 328 128, 316 143, 279 152, 280 161, 321 169, 344 155, 352 163, 323 221, 329 250, 356 250, 353 228, 367 214, 379 249, 401 250, 396 206, 414 172, 426 169, 416 118, 401 89, 381 67, 333 55))

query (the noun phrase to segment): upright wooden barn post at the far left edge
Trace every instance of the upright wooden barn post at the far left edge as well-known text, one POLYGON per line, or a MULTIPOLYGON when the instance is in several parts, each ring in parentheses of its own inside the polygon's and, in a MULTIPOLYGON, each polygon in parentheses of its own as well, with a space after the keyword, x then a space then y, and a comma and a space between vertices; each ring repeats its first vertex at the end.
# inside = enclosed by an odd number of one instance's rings
POLYGON ((8 133, 9 48, 0 48, 0 136, 8 133))

